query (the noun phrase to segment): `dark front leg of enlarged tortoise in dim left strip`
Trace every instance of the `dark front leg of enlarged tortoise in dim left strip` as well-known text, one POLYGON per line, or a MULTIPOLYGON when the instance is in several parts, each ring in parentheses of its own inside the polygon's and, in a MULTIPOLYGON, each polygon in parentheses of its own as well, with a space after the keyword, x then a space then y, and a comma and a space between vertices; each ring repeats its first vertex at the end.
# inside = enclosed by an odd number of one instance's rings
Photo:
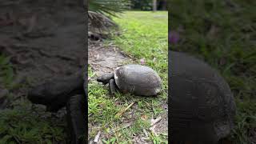
POLYGON ((67 122, 70 127, 71 143, 86 143, 86 98, 84 94, 70 97, 66 103, 67 122))

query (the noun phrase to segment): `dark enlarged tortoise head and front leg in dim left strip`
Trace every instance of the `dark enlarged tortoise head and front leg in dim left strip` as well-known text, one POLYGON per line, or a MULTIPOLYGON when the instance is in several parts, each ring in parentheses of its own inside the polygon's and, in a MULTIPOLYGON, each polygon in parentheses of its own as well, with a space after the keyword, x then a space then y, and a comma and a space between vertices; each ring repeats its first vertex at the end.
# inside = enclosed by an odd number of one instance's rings
POLYGON ((46 106, 46 110, 56 113, 66 106, 67 123, 71 143, 86 143, 86 74, 78 71, 66 78, 53 79, 32 87, 27 98, 34 104, 46 106), (84 77, 84 78, 83 78, 84 77))

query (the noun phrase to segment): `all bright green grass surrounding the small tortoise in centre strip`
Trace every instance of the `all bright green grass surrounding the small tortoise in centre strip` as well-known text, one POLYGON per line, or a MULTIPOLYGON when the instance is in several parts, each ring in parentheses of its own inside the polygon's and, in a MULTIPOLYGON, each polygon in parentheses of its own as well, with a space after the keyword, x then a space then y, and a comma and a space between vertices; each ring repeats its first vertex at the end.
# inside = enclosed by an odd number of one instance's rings
MULTIPOLYGON (((140 59, 146 60, 146 66, 152 67, 162 78, 162 94, 158 98, 141 98, 130 94, 117 94, 111 97, 108 87, 94 80, 89 82, 89 123, 98 124, 90 133, 94 138, 98 131, 104 133, 102 142, 130 143, 133 135, 149 132, 149 141, 166 143, 166 136, 150 134, 150 118, 158 118, 165 110, 162 103, 167 102, 168 78, 168 14, 167 12, 129 11, 120 18, 114 18, 120 26, 122 34, 111 38, 126 54, 134 58, 135 63, 140 59), (121 117, 115 115, 135 102, 121 117), (126 127, 127 123, 132 124, 126 127), (125 126, 125 127, 124 127, 125 126)), ((95 77, 89 68, 89 77, 95 77)))

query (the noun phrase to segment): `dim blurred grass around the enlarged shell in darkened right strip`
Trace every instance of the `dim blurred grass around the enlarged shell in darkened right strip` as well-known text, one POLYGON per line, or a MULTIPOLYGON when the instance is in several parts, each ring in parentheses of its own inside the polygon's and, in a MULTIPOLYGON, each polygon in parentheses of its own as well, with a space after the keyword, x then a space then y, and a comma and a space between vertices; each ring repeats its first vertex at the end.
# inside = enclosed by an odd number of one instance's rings
POLYGON ((170 49, 205 60, 230 84, 237 103, 230 138, 238 144, 250 143, 248 131, 256 127, 255 6, 250 0, 174 0, 170 10, 170 30, 180 34, 170 49))

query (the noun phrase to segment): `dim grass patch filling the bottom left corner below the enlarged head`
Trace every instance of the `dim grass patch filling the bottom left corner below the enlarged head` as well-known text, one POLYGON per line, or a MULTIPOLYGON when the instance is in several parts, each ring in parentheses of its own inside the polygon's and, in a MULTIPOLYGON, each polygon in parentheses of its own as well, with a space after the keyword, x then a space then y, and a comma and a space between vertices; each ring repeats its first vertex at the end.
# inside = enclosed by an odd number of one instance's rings
POLYGON ((43 118, 28 110, 29 103, 0 113, 0 143, 58 143, 65 142, 62 123, 43 118))

